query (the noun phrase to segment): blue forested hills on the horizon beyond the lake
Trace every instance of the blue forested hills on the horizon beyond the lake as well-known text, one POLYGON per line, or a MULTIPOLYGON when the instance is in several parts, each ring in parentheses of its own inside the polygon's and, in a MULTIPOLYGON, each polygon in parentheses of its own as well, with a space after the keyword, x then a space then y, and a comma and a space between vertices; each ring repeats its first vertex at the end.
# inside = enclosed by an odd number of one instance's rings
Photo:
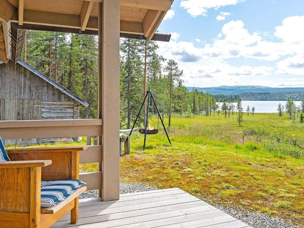
MULTIPOLYGON (((192 89, 193 87, 188 87, 189 91, 192 91, 192 89)), ((235 100, 237 97, 247 101, 285 101, 288 97, 300 101, 304 98, 304 88, 302 87, 273 88, 254 85, 224 85, 206 88, 195 87, 195 89, 204 93, 211 93, 218 101, 235 100)))

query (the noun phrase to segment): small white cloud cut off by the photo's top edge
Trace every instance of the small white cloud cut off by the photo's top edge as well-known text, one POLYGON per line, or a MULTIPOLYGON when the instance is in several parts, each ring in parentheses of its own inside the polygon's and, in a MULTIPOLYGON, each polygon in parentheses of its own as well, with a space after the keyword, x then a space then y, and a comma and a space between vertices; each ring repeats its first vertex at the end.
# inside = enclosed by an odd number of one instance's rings
POLYGON ((219 9, 226 5, 236 5, 246 0, 182 0, 180 6, 187 9, 187 12, 196 17, 207 16, 208 9, 219 9))

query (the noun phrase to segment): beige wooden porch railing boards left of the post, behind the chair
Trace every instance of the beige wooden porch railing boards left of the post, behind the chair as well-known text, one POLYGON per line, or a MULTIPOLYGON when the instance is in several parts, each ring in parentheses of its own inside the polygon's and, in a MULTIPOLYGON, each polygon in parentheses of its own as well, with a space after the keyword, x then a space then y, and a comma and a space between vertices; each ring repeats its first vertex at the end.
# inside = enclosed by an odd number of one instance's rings
MULTIPOLYGON (((5 139, 55 138, 102 135, 102 119, 0 121, 0 136, 5 139)), ((80 152, 80 164, 102 163, 102 146, 88 146, 80 152)), ((81 173, 88 190, 102 190, 102 172, 81 173)))

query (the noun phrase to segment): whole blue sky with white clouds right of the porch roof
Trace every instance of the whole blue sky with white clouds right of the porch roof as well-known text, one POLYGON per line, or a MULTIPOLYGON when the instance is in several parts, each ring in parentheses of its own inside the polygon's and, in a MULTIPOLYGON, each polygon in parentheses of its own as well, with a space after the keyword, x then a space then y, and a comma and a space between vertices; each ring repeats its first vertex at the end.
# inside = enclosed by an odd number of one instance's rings
POLYGON ((303 0, 175 0, 159 32, 186 86, 304 87, 303 0))

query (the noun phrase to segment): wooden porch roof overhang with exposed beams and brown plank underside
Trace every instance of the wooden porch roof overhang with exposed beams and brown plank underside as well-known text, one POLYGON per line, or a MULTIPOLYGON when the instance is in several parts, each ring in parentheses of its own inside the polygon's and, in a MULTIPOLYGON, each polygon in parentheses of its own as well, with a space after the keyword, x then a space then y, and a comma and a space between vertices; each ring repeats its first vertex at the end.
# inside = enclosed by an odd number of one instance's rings
MULTIPOLYGON (((155 32, 173 1, 120 0, 120 36, 168 42, 170 34, 155 32)), ((102 0, 0 0, 0 60, 20 59, 22 29, 97 35, 100 2, 102 0)))

